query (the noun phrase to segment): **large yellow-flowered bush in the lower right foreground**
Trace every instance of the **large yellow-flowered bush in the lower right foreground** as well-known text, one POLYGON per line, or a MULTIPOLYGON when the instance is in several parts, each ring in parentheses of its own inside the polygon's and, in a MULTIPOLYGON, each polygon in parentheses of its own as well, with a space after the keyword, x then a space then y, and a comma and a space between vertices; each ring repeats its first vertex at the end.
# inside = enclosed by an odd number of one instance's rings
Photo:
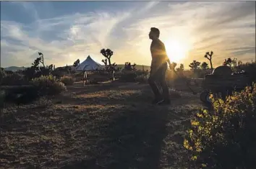
POLYGON ((256 168, 256 84, 234 92, 213 111, 201 110, 191 121, 184 147, 195 168, 256 168))

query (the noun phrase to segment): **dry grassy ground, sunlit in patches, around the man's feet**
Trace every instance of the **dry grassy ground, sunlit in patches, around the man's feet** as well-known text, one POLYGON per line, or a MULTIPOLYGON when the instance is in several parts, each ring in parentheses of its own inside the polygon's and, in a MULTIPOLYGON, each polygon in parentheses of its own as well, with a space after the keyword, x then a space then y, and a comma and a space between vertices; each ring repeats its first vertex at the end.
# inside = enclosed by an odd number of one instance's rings
POLYGON ((175 91, 171 106, 153 106, 148 85, 68 90, 51 101, 4 109, 0 168, 187 167, 182 141, 198 96, 175 91))

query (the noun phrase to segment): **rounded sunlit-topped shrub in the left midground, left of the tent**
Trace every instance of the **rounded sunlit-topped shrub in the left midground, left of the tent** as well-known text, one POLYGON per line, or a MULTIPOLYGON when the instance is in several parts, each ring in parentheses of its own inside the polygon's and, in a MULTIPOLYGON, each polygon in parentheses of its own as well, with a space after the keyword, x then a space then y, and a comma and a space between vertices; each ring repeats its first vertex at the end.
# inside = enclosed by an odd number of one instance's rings
POLYGON ((51 75, 33 78, 31 83, 33 86, 35 86, 35 88, 38 89, 38 94, 40 96, 54 96, 67 90, 64 83, 54 79, 54 77, 51 75))

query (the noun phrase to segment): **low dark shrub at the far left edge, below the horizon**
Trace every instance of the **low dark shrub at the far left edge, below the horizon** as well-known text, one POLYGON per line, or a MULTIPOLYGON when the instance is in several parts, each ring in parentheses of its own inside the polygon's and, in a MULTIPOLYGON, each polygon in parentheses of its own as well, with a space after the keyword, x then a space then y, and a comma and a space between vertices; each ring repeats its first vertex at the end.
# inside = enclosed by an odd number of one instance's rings
POLYGON ((3 74, 1 85, 3 86, 18 86, 25 85, 28 81, 20 73, 3 74))

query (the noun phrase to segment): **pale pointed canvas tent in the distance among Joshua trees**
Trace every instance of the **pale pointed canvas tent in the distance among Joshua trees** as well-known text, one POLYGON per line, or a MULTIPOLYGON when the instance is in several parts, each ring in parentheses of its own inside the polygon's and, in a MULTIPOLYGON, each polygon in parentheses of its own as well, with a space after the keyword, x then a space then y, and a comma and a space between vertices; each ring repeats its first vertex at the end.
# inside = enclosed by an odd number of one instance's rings
POLYGON ((99 63, 96 63, 92 58, 90 58, 90 55, 88 55, 88 57, 85 59, 85 61, 80 63, 80 65, 77 65, 77 67, 75 69, 77 71, 84 72, 82 83, 85 86, 85 78, 87 81, 87 71, 101 70, 101 69, 103 69, 103 66, 99 63))

